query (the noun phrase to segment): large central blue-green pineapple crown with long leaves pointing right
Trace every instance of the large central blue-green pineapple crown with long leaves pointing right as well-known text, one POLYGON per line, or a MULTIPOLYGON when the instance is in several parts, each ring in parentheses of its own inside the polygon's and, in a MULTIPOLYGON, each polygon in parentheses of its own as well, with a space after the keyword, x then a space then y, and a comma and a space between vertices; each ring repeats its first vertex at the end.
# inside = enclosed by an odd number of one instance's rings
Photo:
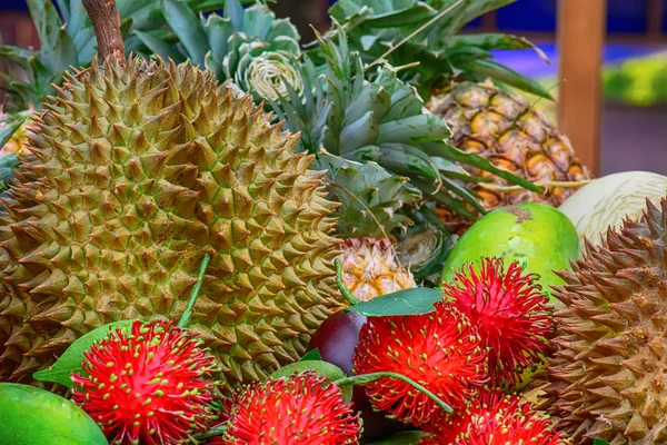
POLYGON ((380 65, 372 80, 365 78, 360 57, 350 51, 346 32, 338 26, 337 39, 322 39, 317 67, 311 55, 299 65, 305 81, 303 100, 296 91, 270 101, 289 130, 301 132, 298 150, 311 154, 325 148, 345 159, 375 161, 391 174, 405 176, 422 194, 475 219, 465 204, 484 214, 475 192, 458 180, 480 181, 455 162, 470 165, 531 190, 530 182, 494 167, 486 159, 449 146, 445 120, 424 107, 417 90, 398 79, 397 69, 380 65))

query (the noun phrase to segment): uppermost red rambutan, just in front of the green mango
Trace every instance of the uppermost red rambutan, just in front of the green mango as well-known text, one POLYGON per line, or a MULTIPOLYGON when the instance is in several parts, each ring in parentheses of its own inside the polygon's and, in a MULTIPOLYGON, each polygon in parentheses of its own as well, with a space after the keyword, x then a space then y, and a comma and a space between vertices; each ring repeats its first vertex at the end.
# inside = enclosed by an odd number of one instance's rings
POLYGON ((482 258, 479 273, 468 264, 442 285, 450 304, 479 330, 489 354, 489 384, 514 387, 521 373, 539 364, 555 329, 549 299, 538 276, 524 274, 518 263, 505 271, 501 258, 482 258))

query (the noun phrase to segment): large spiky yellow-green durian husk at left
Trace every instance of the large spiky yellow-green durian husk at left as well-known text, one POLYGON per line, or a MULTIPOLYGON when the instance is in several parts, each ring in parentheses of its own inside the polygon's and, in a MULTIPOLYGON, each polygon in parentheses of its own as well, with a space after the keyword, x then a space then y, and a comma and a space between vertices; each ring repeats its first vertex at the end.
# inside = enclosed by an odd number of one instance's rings
POLYGON ((0 380, 30 380, 118 319, 182 314, 227 380, 299 358, 341 297, 335 205, 298 136, 190 65, 68 76, 0 216, 0 380))

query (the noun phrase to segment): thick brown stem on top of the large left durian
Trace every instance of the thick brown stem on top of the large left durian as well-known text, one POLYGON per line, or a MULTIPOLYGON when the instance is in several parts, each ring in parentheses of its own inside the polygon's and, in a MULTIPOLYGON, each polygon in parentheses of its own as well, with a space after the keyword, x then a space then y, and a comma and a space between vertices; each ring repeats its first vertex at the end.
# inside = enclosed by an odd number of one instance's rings
POLYGON ((120 17, 116 11, 116 0, 83 0, 83 7, 92 21, 102 60, 116 58, 125 66, 125 43, 120 33, 120 17))

